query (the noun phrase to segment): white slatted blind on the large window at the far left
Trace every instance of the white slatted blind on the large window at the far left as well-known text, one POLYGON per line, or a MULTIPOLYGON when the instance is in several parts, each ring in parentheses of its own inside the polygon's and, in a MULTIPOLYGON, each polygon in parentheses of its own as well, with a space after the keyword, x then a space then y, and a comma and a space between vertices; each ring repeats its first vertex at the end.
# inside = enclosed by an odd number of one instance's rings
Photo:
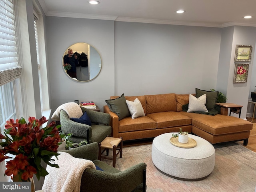
POLYGON ((0 0, 0 86, 22 76, 13 0, 0 0))

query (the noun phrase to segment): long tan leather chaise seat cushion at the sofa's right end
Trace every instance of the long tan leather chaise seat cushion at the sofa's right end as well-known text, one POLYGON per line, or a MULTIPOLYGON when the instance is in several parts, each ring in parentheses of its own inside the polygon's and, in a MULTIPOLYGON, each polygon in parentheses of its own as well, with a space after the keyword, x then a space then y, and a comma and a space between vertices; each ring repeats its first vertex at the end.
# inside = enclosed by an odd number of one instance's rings
POLYGON ((179 112, 192 118, 192 125, 213 135, 230 134, 252 130, 253 124, 249 121, 226 115, 215 116, 179 112))

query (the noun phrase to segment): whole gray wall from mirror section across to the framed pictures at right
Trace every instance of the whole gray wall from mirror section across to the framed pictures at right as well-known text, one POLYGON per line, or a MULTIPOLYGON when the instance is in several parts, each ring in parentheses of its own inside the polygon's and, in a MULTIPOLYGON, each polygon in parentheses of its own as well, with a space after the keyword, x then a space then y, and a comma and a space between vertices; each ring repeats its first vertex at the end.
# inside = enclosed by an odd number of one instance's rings
POLYGON ((46 18, 52 112, 74 100, 93 100, 103 111, 112 95, 187 94, 214 88, 227 94, 228 102, 242 104, 241 118, 246 117, 252 71, 248 83, 233 84, 234 53, 236 44, 255 45, 255 27, 46 18), (91 44, 102 58, 102 70, 90 82, 73 81, 62 70, 63 52, 76 42, 91 44))

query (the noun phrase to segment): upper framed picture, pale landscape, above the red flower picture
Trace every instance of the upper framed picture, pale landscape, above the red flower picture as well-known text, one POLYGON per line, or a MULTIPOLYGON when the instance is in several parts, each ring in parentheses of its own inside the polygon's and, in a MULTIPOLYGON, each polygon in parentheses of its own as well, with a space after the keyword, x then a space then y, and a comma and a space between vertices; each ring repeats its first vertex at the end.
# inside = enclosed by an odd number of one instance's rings
POLYGON ((252 45, 236 45, 235 62, 251 61, 252 45))

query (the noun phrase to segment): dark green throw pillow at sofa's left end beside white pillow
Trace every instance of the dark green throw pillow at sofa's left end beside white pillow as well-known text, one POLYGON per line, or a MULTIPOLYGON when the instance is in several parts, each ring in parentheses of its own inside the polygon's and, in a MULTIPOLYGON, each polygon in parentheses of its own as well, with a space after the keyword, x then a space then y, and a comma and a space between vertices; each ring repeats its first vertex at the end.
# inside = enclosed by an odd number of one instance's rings
POLYGON ((130 116, 130 111, 128 109, 128 106, 126 104, 126 99, 124 97, 124 94, 122 94, 120 97, 116 99, 109 99, 105 100, 108 104, 108 107, 112 112, 117 114, 119 120, 130 116))

